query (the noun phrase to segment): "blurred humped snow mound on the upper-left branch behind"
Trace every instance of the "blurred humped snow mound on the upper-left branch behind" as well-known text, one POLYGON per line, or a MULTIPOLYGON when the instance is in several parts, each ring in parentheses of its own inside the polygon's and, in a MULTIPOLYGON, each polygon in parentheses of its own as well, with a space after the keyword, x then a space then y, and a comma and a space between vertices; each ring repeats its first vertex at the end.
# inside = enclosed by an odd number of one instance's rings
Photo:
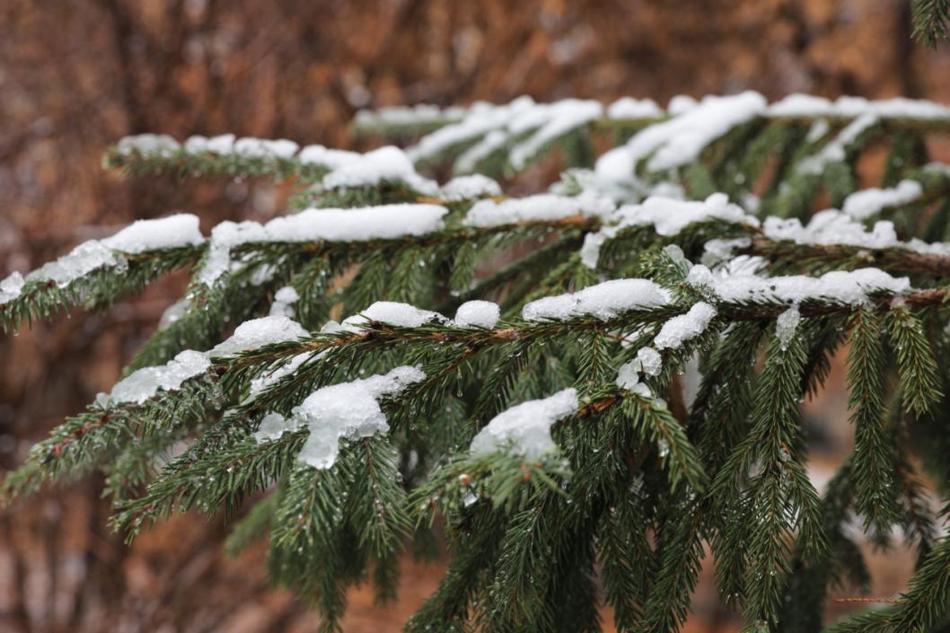
POLYGON ((394 145, 374 149, 357 160, 340 164, 323 177, 320 187, 324 190, 374 187, 381 182, 403 182, 428 196, 439 193, 439 185, 417 174, 406 152, 394 145))

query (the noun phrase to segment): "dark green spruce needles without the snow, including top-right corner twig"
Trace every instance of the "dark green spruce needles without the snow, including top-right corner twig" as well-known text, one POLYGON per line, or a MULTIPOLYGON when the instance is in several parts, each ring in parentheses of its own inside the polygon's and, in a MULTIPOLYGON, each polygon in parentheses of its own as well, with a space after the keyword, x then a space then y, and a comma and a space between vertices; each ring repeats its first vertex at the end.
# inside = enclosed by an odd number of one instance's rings
MULTIPOLYGON (((919 36, 932 42, 945 3, 918 2, 915 10, 919 36)), ((834 630, 940 630, 950 619, 950 549, 925 482, 945 492, 950 472, 950 256, 911 240, 943 240, 950 230, 950 175, 924 166, 926 134, 947 122, 882 116, 855 135, 845 134, 850 116, 758 112, 687 163, 657 173, 649 166, 655 148, 638 157, 636 178, 593 190, 633 202, 675 187, 693 199, 722 192, 748 214, 703 217, 677 230, 637 221, 634 211, 634 221, 612 224, 614 215, 584 208, 592 174, 583 170, 561 177, 562 194, 581 196, 575 215, 485 226, 466 222, 477 201, 448 200, 442 187, 424 186, 423 195, 418 181, 324 189, 325 170, 295 158, 110 151, 109 166, 136 176, 295 179, 294 208, 443 204, 444 226, 386 240, 239 243, 210 285, 199 275, 210 265, 207 244, 126 257, 127 268, 93 271, 66 288, 28 281, 0 306, 5 330, 64 306, 107 307, 194 266, 176 318, 125 374, 184 349, 212 349, 275 306, 293 310, 310 334, 215 353, 206 372, 142 403, 90 406, 34 448, 4 482, 4 498, 102 470, 113 525, 128 538, 175 512, 220 511, 234 522, 227 552, 267 541, 271 580, 312 601, 328 631, 340 629, 350 587, 370 583, 386 602, 398 589, 399 557, 428 559, 444 544, 446 575, 407 623, 410 633, 596 632, 602 604, 613 608, 618 630, 675 631, 690 615, 704 565, 714 566, 722 604, 741 613, 747 630, 813 632, 830 597, 868 590, 862 541, 889 547, 901 528, 919 557, 906 592, 834 630), (842 205, 866 184, 856 165, 879 140, 889 154, 873 184, 921 184, 920 196, 867 219, 868 226, 893 221, 901 243, 870 248, 835 236, 811 243, 769 233, 769 216, 807 223, 819 201, 842 205), (599 238, 596 262, 586 250, 582 257, 581 247, 599 238), (737 256, 725 266, 730 255, 714 248, 724 243, 737 256), (730 296, 697 280, 704 271, 693 262, 700 261, 713 278, 741 276, 730 272, 733 264, 761 277, 809 278, 874 266, 907 275, 910 288, 868 287, 861 297, 730 296), (530 301, 592 287, 602 301, 617 300, 627 291, 596 286, 621 278, 649 280, 669 300, 590 314, 565 309, 551 319, 522 312, 530 301), (299 298, 276 305, 286 286, 299 298), (371 314, 382 300, 451 316, 472 299, 496 301, 500 319, 486 327, 442 317, 412 327, 370 319, 323 327, 371 314), (700 301, 713 312, 697 325, 687 316, 700 301), (778 326, 794 314, 794 327, 778 326), (682 336, 661 344, 667 329, 682 336), (807 470, 800 404, 826 388, 832 357, 845 350, 854 447, 819 494, 807 470), (317 425, 337 421, 323 410, 298 417, 305 399, 404 366, 424 376, 373 397, 388 432, 349 430, 326 468, 300 461, 312 433, 323 431, 317 425), (572 388, 576 410, 550 426, 555 449, 526 456, 509 440, 496 451, 470 451, 496 416, 572 388), (295 425, 257 434, 270 414, 295 425)), ((408 139, 457 121, 457 113, 429 115, 392 125, 363 116, 355 126, 408 139)), ((523 166, 560 154, 572 167, 591 167, 599 136, 624 139, 667 120, 575 125, 546 139, 523 166)), ((475 167, 517 175, 511 151, 532 133, 505 132, 475 167)), ((450 163, 461 170, 457 159, 483 141, 460 137, 420 163, 445 166, 442 174, 450 163)), ((570 306, 579 297, 555 301, 570 306)))

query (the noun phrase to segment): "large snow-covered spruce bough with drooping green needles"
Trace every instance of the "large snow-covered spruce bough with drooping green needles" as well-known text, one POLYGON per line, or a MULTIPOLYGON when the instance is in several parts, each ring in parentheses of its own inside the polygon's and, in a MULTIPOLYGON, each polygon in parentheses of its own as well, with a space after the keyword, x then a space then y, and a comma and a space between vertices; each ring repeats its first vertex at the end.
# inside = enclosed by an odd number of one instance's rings
MULTIPOLYGON (((124 139, 134 176, 294 178, 296 213, 202 236, 178 215, 0 282, 0 324, 191 283, 123 379, 7 477, 8 500, 104 472, 129 538, 223 509, 226 544, 338 627, 346 588, 398 583, 444 531, 422 631, 684 623, 707 548, 750 630, 815 631, 868 585, 862 546, 919 554, 901 596, 837 631, 950 622, 950 108, 754 93, 528 98, 362 113, 366 154, 124 139), (597 155, 596 148, 616 146, 597 155), (865 150, 888 148, 857 191, 865 150), (550 191, 505 197, 548 154, 550 191), (451 165, 439 183, 418 171, 451 165), (819 205, 830 207, 819 213, 819 205), (237 327, 234 327, 237 324, 237 327), (854 447, 809 477, 800 403, 847 350, 854 447)), ((940 629, 941 630, 941 629, 940 629)))

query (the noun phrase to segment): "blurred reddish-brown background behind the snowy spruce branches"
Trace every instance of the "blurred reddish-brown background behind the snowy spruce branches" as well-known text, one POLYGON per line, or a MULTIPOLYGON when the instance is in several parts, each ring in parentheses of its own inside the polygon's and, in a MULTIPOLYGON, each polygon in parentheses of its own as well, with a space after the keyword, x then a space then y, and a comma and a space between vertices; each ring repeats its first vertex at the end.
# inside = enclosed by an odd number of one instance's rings
MULTIPOLYGON (((662 105, 752 88, 950 104, 950 48, 921 48, 910 30, 907 0, 0 0, 0 278, 176 210, 199 214, 205 232, 264 221, 292 186, 123 180, 100 162, 126 134, 353 147, 347 124, 362 107, 521 94, 662 105)), ((107 391, 184 283, 0 337, 0 471, 107 391)), ((851 441, 845 395, 837 372, 807 403, 817 477, 851 441)), ((100 490, 79 481, 0 510, 0 632, 316 629, 305 605, 267 588, 261 551, 222 556, 222 522, 179 518, 125 547, 100 490)), ((899 591, 906 553, 871 560, 876 594, 899 591)), ((345 630, 399 630, 440 575, 407 561, 386 608, 354 591, 345 630)), ((710 575, 687 628, 737 630, 710 575)))

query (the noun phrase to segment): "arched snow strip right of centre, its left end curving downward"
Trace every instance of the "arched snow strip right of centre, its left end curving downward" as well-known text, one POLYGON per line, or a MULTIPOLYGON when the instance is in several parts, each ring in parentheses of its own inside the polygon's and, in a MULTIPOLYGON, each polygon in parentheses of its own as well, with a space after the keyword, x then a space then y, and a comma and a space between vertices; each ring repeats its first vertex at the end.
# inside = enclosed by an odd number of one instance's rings
POLYGON ((596 269, 603 244, 617 237, 623 229, 632 226, 653 226, 657 235, 675 236, 696 222, 719 220, 758 226, 759 221, 748 215, 726 194, 714 193, 705 201, 682 201, 652 196, 640 204, 625 204, 610 216, 608 224, 596 233, 584 236, 580 261, 596 269))

